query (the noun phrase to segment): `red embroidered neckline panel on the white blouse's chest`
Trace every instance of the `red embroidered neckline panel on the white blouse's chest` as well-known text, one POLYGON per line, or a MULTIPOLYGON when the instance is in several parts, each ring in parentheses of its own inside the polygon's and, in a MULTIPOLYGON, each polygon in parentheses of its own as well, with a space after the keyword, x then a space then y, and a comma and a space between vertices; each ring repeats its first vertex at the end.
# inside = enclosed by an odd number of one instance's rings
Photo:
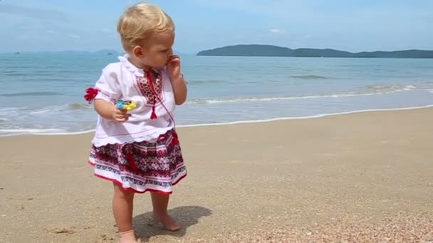
POLYGON ((145 77, 137 77, 137 87, 140 90, 141 94, 147 99, 147 106, 153 106, 157 102, 160 102, 164 99, 162 96, 162 87, 164 85, 164 77, 162 72, 156 75, 156 80, 154 83, 155 92, 153 92, 152 87, 150 87, 147 78, 145 77), (156 93, 156 95, 155 95, 156 93))

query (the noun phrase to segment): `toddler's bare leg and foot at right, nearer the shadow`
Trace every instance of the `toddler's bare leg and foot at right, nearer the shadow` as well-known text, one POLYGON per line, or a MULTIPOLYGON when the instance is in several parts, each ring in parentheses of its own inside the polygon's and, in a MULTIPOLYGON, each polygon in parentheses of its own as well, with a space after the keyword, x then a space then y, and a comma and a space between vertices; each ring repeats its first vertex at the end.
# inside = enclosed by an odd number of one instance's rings
POLYGON ((161 222, 168 230, 177 231, 182 228, 176 220, 170 217, 167 213, 169 195, 161 193, 151 193, 153 205, 153 219, 161 222))

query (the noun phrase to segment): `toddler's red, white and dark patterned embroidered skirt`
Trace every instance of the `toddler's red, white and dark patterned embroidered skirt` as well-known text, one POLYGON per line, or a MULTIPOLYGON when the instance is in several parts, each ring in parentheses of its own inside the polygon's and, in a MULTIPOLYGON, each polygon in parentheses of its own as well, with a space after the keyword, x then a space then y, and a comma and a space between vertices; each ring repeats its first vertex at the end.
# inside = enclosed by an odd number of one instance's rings
POLYGON ((172 193, 172 186, 187 175, 174 130, 155 142, 92 146, 89 163, 99 178, 136 193, 172 193))

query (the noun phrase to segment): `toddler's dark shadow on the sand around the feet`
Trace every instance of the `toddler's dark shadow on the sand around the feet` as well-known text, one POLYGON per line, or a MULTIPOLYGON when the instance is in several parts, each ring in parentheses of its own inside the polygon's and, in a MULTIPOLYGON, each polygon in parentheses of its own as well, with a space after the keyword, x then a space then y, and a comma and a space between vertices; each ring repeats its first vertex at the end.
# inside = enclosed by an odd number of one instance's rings
POLYGON ((132 220, 135 234, 142 242, 147 241, 150 237, 162 234, 182 237, 186 234, 188 227, 197 225, 200 217, 212 215, 212 211, 206 207, 184 206, 169 210, 169 215, 174 217, 174 219, 182 225, 182 229, 177 232, 165 230, 162 228, 162 225, 152 220, 152 212, 145 212, 142 215, 135 216, 132 220))

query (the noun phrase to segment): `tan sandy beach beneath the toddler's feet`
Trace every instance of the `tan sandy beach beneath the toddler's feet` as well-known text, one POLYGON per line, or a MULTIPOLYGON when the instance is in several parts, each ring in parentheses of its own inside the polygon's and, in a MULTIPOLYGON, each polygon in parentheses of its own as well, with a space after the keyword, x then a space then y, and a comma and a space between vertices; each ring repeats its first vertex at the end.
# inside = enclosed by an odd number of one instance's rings
MULTIPOLYGON (((433 108, 179 128, 189 175, 143 242, 433 242, 433 108), (281 129, 277 131, 276 129, 281 129)), ((0 138, 0 242, 116 242, 92 134, 0 138)))

